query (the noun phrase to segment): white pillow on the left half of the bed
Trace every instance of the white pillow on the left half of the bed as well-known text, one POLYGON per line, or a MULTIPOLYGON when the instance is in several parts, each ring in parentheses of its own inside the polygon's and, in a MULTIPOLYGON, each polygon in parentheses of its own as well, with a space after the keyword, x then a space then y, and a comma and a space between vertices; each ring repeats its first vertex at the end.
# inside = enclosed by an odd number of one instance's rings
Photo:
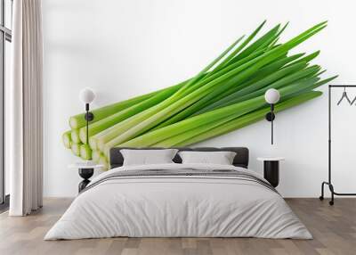
POLYGON ((162 150, 120 150, 124 157, 124 166, 150 165, 174 163, 173 159, 178 152, 176 149, 162 150))

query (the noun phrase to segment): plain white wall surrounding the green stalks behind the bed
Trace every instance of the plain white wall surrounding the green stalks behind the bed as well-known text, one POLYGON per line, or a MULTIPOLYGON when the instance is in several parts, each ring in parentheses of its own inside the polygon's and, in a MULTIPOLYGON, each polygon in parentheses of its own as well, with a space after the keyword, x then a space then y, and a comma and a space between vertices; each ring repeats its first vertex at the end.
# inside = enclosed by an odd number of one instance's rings
MULTIPOLYGON (((77 159, 61 144, 61 134, 69 127, 69 116, 83 110, 77 98, 81 88, 90 86, 96 91, 93 106, 97 107, 172 85, 196 74, 264 19, 269 28, 290 21, 284 38, 328 20, 328 29, 297 51, 320 49, 317 62, 328 69, 329 76, 340 75, 335 83, 352 83, 356 81, 353 3, 44 0, 44 195, 77 193, 80 178, 77 171, 67 168, 77 159)), ((328 167, 327 106, 323 95, 278 114, 276 148, 271 148, 267 121, 199 145, 248 146, 250 168, 260 172, 257 156, 284 156, 280 193, 319 196, 328 167)), ((334 177, 337 191, 346 192, 356 188, 356 109, 339 107, 336 111, 334 177)))

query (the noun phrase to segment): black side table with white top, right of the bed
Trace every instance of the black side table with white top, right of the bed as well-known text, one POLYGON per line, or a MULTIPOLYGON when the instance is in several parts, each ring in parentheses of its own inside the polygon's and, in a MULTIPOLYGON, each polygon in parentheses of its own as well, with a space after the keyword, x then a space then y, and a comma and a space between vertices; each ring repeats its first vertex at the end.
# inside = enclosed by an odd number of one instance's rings
POLYGON ((279 161, 284 160, 281 157, 260 157, 263 161, 263 177, 273 186, 279 185, 279 161))

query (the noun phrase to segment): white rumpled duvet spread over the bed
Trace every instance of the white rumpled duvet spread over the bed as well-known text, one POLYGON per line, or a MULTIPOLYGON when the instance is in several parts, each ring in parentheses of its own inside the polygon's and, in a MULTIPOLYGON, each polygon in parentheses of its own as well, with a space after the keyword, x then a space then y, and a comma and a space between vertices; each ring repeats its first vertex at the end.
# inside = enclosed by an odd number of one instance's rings
MULTIPOLYGON (((160 164, 111 169, 234 169, 226 165, 160 164)), ((126 177, 80 193, 45 240, 129 237, 262 237, 311 239, 283 198, 256 182, 234 177, 126 177)))

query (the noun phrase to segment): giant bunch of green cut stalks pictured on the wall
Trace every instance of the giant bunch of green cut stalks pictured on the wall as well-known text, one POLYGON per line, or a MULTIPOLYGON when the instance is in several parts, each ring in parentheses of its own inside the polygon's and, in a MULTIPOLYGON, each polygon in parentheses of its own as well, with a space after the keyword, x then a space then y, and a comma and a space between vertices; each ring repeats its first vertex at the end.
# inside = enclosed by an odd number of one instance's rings
POLYGON ((275 111, 283 111, 320 96, 319 65, 311 54, 289 51, 327 26, 327 22, 279 42, 287 25, 256 37, 265 21, 248 37, 239 37, 195 77, 146 95, 93 110, 86 143, 85 113, 70 117, 64 145, 84 160, 108 165, 112 147, 173 147, 196 144, 264 118, 269 88, 279 90, 275 111))

